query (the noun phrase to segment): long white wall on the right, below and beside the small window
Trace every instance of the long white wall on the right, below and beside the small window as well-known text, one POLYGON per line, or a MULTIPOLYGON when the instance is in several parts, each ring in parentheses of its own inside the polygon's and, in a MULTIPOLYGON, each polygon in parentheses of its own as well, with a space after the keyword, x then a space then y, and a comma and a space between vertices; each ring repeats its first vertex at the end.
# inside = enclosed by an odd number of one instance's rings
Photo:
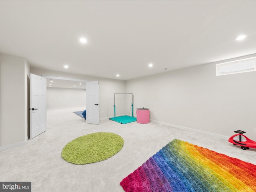
POLYGON ((256 72, 216 76, 216 64, 204 64, 129 80, 126 92, 151 120, 228 137, 244 130, 255 140, 255 82, 256 72))

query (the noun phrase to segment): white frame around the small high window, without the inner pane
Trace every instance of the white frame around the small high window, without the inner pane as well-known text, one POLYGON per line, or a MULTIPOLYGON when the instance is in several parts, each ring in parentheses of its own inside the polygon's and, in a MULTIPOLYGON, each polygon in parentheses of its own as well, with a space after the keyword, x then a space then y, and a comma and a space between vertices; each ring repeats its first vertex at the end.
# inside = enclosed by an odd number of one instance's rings
POLYGON ((237 73, 245 73, 245 72, 252 72, 252 71, 256 71, 256 57, 216 64, 216 76, 230 75, 230 74, 237 74, 237 73), (254 67, 253 68, 239 70, 239 71, 223 72, 223 73, 220 72, 220 68, 223 67, 223 66, 232 66, 234 64, 242 64, 244 62, 249 62, 249 61, 254 62, 254 67))

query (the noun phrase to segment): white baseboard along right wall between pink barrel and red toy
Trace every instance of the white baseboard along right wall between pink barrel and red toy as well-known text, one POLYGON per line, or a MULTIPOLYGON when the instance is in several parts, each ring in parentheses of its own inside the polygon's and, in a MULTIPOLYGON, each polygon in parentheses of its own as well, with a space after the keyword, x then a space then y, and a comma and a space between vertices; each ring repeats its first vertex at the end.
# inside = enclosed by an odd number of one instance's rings
POLYGON ((198 133, 205 134, 205 135, 208 135, 208 136, 212 136, 212 137, 218 138, 218 139, 228 140, 228 138, 229 138, 229 137, 224 136, 224 135, 219 135, 219 134, 215 134, 215 133, 211 133, 211 132, 206 132, 206 131, 202 131, 202 130, 192 129, 192 128, 188 128, 188 127, 184 127, 184 126, 179 126, 179 125, 174 125, 174 124, 170 124, 170 123, 160 122, 160 121, 156 121, 156 120, 152 120, 152 119, 150 119, 150 121, 151 122, 155 122, 155 123, 159 123, 159 124, 162 124, 162 125, 174 127, 174 128, 180 128, 180 129, 183 129, 183 130, 190 130, 190 131, 198 132, 198 133))

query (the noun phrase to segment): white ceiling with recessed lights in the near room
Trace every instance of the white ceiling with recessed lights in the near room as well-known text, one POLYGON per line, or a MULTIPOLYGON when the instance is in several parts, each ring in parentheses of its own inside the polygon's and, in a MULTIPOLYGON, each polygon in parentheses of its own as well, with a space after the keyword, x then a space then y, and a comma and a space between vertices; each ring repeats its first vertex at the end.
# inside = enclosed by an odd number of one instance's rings
POLYGON ((130 80, 256 53, 255 10, 245 0, 1 0, 0 52, 35 68, 130 80))

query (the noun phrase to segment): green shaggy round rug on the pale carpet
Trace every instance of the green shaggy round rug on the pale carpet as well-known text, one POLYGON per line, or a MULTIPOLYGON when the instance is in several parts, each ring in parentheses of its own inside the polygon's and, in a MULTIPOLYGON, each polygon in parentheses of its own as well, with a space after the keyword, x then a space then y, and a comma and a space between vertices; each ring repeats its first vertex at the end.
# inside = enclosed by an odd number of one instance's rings
POLYGON ((78 137, 63 148, 61 156, 72 164, 88 164, 106 160, 124 146, 124 139, 114 133, 98 132, 78 137))

